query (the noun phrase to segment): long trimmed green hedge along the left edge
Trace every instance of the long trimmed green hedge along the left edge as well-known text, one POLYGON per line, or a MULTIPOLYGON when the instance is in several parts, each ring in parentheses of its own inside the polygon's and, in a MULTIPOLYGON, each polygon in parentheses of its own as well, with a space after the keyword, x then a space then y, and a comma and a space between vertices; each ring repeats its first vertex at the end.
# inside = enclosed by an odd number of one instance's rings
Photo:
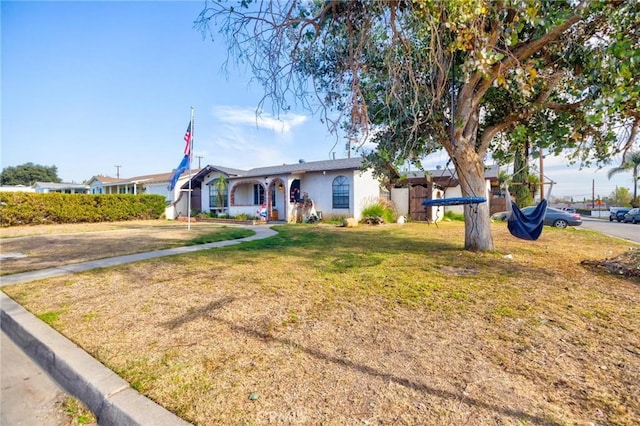
POLYGON ((0 192, 2 226, 158 219, 162 195, 0 192))

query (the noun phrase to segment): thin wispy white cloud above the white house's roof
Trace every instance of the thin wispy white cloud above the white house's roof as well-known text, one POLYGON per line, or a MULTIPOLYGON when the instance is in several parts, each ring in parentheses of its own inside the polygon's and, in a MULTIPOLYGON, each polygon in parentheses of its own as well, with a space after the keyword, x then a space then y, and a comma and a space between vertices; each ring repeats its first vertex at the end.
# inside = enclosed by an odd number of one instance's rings
POLYGON ((282 133, 289 133, 294 127, 303 124, 308 119, 305 115, 293 113, 276 118, 265 112, 256 114, 256 110, 252 108, 234 106, 215 106, 213 115, 225 124, 254 126, 282 133))

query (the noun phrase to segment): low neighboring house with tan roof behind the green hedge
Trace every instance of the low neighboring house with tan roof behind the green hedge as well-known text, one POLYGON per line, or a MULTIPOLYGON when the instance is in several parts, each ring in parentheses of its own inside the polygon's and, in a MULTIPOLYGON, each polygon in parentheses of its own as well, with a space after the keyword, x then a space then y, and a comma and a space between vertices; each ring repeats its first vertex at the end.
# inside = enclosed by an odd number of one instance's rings
MULTIPOLYGON (((191 170, 191 176, 199 170, 191 170)), ((132 178, 114 178, 97 175, 89 179, 88 185, 92 194, 157 194, 167 200, 165 215, 167 219, 176 218, 174 204, 180 200, 181 186, 189 181, 189 172, 183 173, 173 189, 169 191, 169 182, 173 172, 158 173, 153 175, 135 176, 132 178)), ((186 212, 185 212, 186 213, 186 212)))

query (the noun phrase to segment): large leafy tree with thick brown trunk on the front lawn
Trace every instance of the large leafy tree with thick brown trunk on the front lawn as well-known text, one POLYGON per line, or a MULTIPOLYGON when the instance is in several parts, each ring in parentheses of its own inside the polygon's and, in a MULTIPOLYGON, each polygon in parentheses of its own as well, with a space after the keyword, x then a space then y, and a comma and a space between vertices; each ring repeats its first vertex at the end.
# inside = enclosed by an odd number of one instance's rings
MULTIPOLYGON (((637 141, 637 1, 245 0, 208 3, 197 24, 276 112, 299 100, 373 141, 382 176, 444 148, 462 194, 478 196, 489 153, 510 161, 526 142, 605 163, 637 141)), ((466 249, 493 250, 486 203, 465 225, 466 249)))

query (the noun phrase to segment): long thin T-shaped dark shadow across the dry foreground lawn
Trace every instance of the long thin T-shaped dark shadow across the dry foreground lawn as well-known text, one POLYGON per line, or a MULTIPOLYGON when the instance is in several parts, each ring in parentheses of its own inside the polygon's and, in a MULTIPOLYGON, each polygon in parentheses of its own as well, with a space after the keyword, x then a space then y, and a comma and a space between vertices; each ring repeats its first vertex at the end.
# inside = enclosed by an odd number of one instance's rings
POLYGON ((404 386, 406 388, 409 389, 413 389, 431 396, 435 396, 437 398, 441 398, 441 399, 449 399, 449 400, 454 400, 454 401, 464 401, 465 404, 468 405, 473 405, 479 408, 483 408, 483 409, 487 409, 487 410, 491 410, 494 411, 496 413, 499 413, 500 415, 503 416, 507 416, 507 417, 511 417, 514 419, 517 419, 518 421, 522 422, 522 421, 526 421, 526 422, 531 422, 533 424, 540 424, 540 425, 550 425, 550 424, 556 424, 553 421, 551 421, 550 419, 547 418, 543 418, 543 417, 539 417, 533 414, 529 414, 529 413, 525 413, 523 411, 520 410, 516 410, 516 409, 512 409, 512 408, 507 408, 507 407, 500 407, 498 405, 494 405, 494 404, 489 404, 486 403, 484 401, 480 401, 478 399, 475 398, 470 398, 467 396, 462 395, 461 393, 454 393, 454 392, 449 392, 446 390, 442 390, 442 389, 438 389, 435 388, 433 386, 430 386, 426 383, 422 383, 419 380, 416 379, 408 379, 406 377, 400 377, 388 372, 385 372, 383 370, 379 370, 367 365, 363 365, 363 364, 359 364, 356 363, 354 361, 351 361, 349 359, 346 358, 341 358, 341 357, 337 357, 325 352, 322 352, 320 350, 317 349, 312 349, 312 348, 308 348, 306 346, 303 346, 299 343, 294 342, 291 339, 287 339, 287 338, 282 338, 282 337, 274 337, 269 333, 265 333, 263 331, 257 330, 255 328, 251 328, 251 327, 247 327, 241 324, 236 324, 232 321, 229 321, 225 318, 219 317, 217 315, 214 314, 215 311, 219 310, 220 308, 223 308, 227 305, 229 305, 230 303, 232 303, 235 300, 235 298, 233 297, 224 297, 222 299, 213 301, 208 303, 207 305, 203 305, 202 307, 198 308, 198 309, 194 309, 186 314, 180 315, 170 321, 167 321, 165 323, 163 323, 162 325, 168 329, 176 329, 190 321, 194 321, 196 319, 199 318, 203 318, 203 319, 208 319, 210 321, 216 321, 219 322, 221 324, 226 325, 227 327, 229 327, 229 329, 231 329, 232 331, 236 332, 236 333, 243 333, 245 335, 247 335, 248 337, 254 338, 254 339, 259 339, 263 342, 267 342, 267 343, 275 343, 275 344, 279 344, 279 345, 283 345, 283 346, 287 346, 287 347, 291 347, 294 348, 298 351, 304 352, 318 360, 322 360, 322 361, 326 361, 326 362, 330 362, 333 363, 335 365, 338 365, 340 367, 343 368, 348 368, 354 371, 357 371, 361 374, 367 374, 369 376, 372 377, 376 377, 376 378, 380 378, 383 379, 385 381, 389 381, 389 382, 393 382, 395 384, 398 384, 400 386, 404 386))

